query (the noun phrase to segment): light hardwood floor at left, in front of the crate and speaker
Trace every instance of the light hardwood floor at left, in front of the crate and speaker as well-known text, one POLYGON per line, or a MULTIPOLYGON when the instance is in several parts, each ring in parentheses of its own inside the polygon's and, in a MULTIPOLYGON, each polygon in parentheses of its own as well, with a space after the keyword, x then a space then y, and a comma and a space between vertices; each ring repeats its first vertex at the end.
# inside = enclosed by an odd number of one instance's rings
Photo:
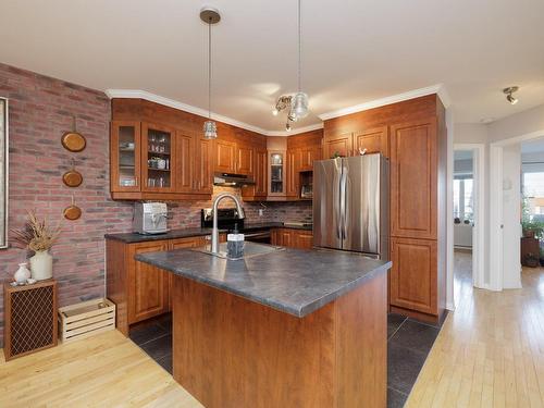
POLYGON ((0 407, 202 407, 118 331, 5 362, 0 407))

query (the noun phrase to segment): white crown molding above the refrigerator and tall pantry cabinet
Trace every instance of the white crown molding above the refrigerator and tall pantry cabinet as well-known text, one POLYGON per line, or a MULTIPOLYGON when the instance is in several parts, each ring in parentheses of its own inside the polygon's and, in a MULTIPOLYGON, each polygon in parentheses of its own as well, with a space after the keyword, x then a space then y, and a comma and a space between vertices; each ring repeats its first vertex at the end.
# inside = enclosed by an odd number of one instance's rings
POLYGON ((448 108, 450 106, 449 95, 448 95, 444 84, 437 84, 437 85, 428 86, 426 88, 413 89, 413 90, 409 90, 409 91, 404 92, 404 94, 392 95, 391 97, 375 99, 375 100, 371 100, 371 101, 368 101, 364 103, 356 104, 354 107, 343 108, 343 109, 338 109, 338 110, 333 111, 333 112, 323 113, 323 114, 319 115, 319 119, 321 119, 322 121, 326 121, 329 119, 334 119, 334 118, 338 118, 338 116, 344 116, 346 114, 362 112, 362 111, 367 111, 369 109, 380 108, 380 107, 384 107, 386 104, 392 104, 392 103, 397 103, 397 102, 403 102, 405 100, 424 97, 426 95, 432 95, 432 94, 436 94, 438 96, 438 98, 441 99, 441 101, 445 108, 448 108))

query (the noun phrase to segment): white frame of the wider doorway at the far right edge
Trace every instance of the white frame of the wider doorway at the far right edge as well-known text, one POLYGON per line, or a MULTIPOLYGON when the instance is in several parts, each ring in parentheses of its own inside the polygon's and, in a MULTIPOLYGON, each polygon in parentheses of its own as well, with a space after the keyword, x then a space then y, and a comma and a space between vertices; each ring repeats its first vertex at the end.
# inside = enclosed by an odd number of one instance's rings
POLYGON ((542 137, 544 129, 490 144, 490 289, 492 290, 504 288, 503 147, 542 137))

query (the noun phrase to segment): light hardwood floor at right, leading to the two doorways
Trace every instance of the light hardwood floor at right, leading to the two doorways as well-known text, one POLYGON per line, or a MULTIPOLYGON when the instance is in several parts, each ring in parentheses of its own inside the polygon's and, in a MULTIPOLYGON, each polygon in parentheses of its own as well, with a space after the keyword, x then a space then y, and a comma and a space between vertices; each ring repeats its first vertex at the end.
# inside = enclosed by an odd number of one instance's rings
POLYGON ((407 407, 544 407, 544 269, 522 289, 473 289, 470 255, 456 254, 449 313, 407 407))

